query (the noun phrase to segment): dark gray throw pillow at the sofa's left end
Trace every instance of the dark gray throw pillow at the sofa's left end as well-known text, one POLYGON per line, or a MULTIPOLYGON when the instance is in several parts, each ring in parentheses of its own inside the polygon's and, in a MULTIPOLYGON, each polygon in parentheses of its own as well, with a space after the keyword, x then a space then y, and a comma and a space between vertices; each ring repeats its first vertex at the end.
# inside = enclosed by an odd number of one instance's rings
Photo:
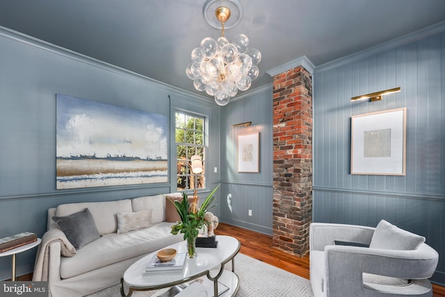
POLYGON ((100 237, 88 208, 70 216, 53 216, 53 220, 76 250, 100 237))

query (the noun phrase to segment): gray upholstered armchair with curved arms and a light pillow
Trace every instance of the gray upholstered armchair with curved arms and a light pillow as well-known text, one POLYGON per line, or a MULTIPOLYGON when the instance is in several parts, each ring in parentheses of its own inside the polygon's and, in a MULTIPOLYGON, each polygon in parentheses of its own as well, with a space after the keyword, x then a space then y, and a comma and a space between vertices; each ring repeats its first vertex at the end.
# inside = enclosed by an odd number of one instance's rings
POLYGON ((432 296, 439 254, 423 236, 385 220, 375 228, 312 223, 309 241, 315 297, 432 296))

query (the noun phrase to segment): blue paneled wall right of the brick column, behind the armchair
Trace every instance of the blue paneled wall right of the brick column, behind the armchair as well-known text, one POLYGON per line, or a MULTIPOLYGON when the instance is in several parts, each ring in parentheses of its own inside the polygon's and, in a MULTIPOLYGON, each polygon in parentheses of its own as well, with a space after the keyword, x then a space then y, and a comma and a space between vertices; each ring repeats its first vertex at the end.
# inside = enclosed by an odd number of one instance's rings
MULTIPOLYGON (((442 26, 442 32, 445 29, 442 26)), ((314 73, 315 222, 381 219, 445 255, 445 33, 317 67, 314 73), (350 97, 401 87, 380 102, 350 97), (406 176, 350 175, 352 115, 407 108, 406 176)), ((433 278, 445 283, 445 257, 433 278)))

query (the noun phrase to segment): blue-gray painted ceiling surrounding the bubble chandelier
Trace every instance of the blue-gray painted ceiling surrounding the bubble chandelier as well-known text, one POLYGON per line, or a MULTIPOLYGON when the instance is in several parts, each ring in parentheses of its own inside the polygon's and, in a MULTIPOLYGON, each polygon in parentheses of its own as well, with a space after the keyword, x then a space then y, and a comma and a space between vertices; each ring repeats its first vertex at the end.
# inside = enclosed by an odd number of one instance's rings
MULTIPOLYGON (((322 65, 445 20, 444 0, 241 0, 243 19, 226 30, 261 51, 266 71, 307 56, 322 65)), ((204 0, 0 0, 0 26, 198 92, 185 69, 191 51, 220 31, 204 0)), ((210 97, 209 97, 210 98, 210 97)))

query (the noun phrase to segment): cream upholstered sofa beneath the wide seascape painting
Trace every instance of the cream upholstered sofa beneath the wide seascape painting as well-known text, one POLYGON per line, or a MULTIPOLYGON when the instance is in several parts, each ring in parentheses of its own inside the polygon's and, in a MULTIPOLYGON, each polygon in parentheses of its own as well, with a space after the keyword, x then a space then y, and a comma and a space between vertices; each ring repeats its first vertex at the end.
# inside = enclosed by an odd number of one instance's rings
MULTIPOLYGON (((181 194, 175 193, 177 195, 181 194)), ((49 296, 54 297, 86 296, 118 284, 124 271, 140 257, 184 240, 182 234, 170 234, 174 223, 166 221, 165 207, 165 196, 154 195, 110 202, 60 204, 48 209, 48 230, 38 249, 33 280, 48 280, 49 296), (100 235, 76 249, 58 229, 53 217, 67 218, 83 214, 86 209, 100 235), (151 213, 151 227, 128 231, 134 227, 131 222, 125 226, 124 220, 118 220, 118 216, 122 218, 122 215, 144 211, 151 213)))

